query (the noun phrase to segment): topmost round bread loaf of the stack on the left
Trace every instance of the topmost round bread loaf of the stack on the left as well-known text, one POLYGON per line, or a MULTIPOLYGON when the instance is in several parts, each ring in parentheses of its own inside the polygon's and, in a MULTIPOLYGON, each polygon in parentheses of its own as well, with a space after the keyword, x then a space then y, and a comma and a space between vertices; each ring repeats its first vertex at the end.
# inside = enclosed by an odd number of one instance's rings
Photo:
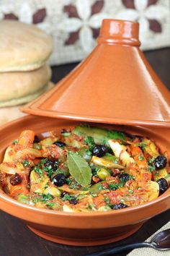
POLYGON ((1 20, 0 38, 0 72, 37 69, 53 51, 51 36, 35 25, 1 20))

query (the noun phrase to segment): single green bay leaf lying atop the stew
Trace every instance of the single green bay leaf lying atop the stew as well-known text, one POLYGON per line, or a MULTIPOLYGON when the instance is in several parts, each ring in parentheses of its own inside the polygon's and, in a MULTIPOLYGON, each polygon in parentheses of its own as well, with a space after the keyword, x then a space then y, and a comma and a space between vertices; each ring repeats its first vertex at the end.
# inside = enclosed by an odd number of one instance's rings
POLYGON ((79 182, 82 187, 89 187, 91 183, 91 168, 88 163, 77 153, 68 153, 68 168, 71 176, 79 182))

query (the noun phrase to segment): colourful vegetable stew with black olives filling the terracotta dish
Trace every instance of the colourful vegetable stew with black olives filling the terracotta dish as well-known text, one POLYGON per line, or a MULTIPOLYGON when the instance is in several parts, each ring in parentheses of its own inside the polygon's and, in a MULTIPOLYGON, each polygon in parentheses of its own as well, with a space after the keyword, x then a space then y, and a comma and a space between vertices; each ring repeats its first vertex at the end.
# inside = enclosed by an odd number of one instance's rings
POLYGON ((169 188, 169 160, 146 137, 79 125, 48 137, 24 130, 6 149, 1 187, 38 208, 121 210, 169 188))

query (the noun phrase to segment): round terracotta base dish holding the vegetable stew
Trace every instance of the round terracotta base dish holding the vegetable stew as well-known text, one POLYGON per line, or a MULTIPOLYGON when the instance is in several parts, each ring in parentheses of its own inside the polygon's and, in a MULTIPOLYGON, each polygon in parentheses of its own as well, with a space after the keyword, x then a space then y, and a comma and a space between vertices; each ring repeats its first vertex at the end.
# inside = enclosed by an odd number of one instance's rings
MULTIPOLYGON (((17 119, 0 129, 0 161, 3 159, 7 145, 15 140, 23 129, 33 129, 35 134, 45 136, 47 131, 60 132, 61 129, 76 124, 76 121, 40 116, 25 116, 17 119)), ((170 129, 96 125, 125 130, 135 135, 146 135, 156 141, 162 152, 167 151, 170 155, 170 129)), ((169 209, 169 205, 170 189, 156 200, 144 205, 106 213, 64 213, 45 210, 24 205, 10 198, 2 190, 0 192, 1 210, 22 219, 32 231, 45 239, 71 245, 106 244, 123 239, 137 231, 148 218, 169 209)))

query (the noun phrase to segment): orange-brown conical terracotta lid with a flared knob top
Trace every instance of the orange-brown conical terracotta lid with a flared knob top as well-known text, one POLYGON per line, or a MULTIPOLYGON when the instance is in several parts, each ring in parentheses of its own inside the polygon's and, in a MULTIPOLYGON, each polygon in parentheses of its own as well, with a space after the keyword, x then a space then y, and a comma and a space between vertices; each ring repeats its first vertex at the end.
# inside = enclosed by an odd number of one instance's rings
POLYGON ((138 22, 103 20, 98 46, 22 111, 109 124, 170 127, 170 93, 139 49, 138 22))

